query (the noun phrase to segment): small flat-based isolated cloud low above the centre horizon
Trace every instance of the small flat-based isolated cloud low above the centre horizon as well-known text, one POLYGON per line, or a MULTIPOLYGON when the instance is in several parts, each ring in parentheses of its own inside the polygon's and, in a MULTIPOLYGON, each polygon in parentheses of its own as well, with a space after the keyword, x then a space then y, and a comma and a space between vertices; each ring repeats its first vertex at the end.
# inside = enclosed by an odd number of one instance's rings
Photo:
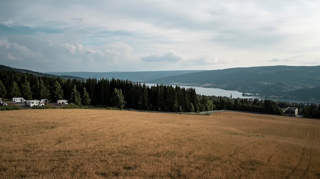
POLYGON ((151 54, 149 56, 143 56, 140 59, 144 62, 179 62, 182 61, 183 57, 171 50, 162 55, 151 54))

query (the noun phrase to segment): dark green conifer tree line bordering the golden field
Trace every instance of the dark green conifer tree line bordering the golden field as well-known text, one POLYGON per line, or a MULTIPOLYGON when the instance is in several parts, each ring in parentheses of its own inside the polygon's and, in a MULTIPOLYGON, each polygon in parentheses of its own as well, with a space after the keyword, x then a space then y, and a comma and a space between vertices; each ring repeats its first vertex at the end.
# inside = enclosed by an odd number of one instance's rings
MULTIPOLYGON (((201 112, 211 110, 241 110, 283 114, 281 103, 272 100, 230 99, 197 95, 194 88, 145 83, 120 79, 84 80, 35 76, 10 70, 0 71, 0 97, 25 99, 67 99, 78 105, 109 106, 166 112, 201 112)), ((289 104, 288 104, 289 105, 289 104)), ((303 106, 308 117, 316 116, 317 107, 303 106), (311 112, 310 112, 311 111, 311 112)))

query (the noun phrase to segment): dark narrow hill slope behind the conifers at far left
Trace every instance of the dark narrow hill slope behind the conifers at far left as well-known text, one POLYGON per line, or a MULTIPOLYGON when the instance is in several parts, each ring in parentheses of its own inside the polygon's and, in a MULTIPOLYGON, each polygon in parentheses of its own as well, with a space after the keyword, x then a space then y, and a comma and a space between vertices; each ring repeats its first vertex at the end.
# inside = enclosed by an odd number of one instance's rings
POLYGON ((34 76, 47 76, 47 77, 53 77, 53 78, 62 78, 62 79, 77 79, 77 80, 85 80, 85 78, 77 77, 77 76, 71 76, 71 75, 53 75, 53 74, 47 74, 47 73, 40 73, 40 72, 34 72, 30 70, 24 70, 24 69, 16 69, 7 67, 4 65, 0 65, 0 70, 9 70, 9 71, 15 71, 20 73, 29 73, 33 74, 34 76))

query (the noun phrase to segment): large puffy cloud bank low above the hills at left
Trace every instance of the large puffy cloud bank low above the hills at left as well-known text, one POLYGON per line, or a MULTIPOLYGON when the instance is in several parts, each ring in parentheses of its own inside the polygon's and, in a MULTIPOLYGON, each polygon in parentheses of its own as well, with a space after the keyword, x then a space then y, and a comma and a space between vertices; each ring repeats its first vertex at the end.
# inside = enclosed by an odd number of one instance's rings
POLYGON ((59 38, 50 37, 21 35, 1 41, 0 63, 35 71, 88 71, 88 68, 92 69, 90 71, 107 71, 106 67, 112 70, 112 66, 133 63, 133 50, 123 42, 92 47, 79 43, 61 43, 59 38))

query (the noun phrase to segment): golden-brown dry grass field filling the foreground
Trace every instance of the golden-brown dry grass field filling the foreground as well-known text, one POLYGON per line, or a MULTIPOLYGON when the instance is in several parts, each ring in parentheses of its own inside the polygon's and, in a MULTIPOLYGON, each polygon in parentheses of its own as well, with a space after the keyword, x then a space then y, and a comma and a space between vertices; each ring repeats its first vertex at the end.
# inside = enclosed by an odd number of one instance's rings
POLYGON ((320 120, 0 111, 0 178, 320 178, 320 120))

